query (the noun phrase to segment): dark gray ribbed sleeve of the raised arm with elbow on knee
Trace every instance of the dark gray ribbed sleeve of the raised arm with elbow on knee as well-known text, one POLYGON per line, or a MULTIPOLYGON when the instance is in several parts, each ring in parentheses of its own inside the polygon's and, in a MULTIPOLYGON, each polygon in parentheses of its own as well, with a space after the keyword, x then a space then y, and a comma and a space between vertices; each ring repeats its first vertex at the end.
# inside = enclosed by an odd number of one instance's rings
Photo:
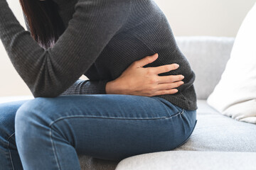
POLYGON ((127 0, 78 0, 68 28, 44 50, 0 0, 0 38, 34 97, 56 97, 90 68, 129 16, 127 0))

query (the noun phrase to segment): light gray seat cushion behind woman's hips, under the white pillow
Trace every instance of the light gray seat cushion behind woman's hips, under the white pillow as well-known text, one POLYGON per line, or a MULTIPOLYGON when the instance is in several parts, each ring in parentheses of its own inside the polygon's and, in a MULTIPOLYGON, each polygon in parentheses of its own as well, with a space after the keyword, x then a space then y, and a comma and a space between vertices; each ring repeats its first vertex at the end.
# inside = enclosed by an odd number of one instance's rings
POLYGON ((198 100, 198 123, 189 140, 176 150, 256 152, 256 125, 239 122, 198 100))

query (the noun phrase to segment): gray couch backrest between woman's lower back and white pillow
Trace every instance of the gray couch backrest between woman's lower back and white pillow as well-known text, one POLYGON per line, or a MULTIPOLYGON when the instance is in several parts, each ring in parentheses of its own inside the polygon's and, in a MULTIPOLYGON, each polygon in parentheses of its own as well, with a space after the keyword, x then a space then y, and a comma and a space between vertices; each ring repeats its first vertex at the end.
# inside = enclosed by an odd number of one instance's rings
POLYGON ((181 52, 186 56, 196 74, 194 82, 198 99, 206 99, 213 91, 225 65, 235 38, 177 37, 181 52))

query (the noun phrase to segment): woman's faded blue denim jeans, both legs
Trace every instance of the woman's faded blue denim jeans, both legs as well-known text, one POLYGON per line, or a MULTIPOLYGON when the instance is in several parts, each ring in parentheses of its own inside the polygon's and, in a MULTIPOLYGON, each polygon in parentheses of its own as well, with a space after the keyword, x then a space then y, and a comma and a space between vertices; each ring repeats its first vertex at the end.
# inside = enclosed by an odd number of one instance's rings
POLYGON ((196 110, 156 96, 34 98, 0 104, 0 169, 80 169, 79 154, 119 160, 183 145, 196 110))

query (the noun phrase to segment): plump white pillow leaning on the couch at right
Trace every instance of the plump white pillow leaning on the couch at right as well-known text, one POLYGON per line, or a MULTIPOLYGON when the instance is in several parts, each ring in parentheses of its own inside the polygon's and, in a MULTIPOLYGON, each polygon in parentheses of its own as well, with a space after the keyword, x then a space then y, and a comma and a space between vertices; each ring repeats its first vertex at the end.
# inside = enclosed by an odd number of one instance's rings
POLYGON ((223 115, 256 124, 256 4, 240 26, 230 60, 207 103, 223 115))

